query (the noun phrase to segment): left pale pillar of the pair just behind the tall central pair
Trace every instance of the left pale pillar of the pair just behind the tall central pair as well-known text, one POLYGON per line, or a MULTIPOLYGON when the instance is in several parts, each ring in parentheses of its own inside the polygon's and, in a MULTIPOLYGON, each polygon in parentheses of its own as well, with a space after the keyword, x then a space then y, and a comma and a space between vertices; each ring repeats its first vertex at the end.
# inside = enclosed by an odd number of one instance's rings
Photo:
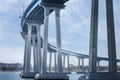
POLYGON ((30 72, 31 68, 31 35, 32 35, 32 24, 28 24, 28 36, 27 36, 27 72, 30 72))

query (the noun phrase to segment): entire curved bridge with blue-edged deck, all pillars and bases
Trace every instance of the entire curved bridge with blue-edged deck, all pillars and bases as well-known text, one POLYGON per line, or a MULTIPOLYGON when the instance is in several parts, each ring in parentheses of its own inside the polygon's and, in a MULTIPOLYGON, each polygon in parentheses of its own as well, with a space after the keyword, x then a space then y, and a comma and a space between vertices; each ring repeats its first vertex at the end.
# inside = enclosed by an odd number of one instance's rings
POLYGON ((65 8, 64 3, 67 1, 68 0, 33 0, 24 12, 21 20, 21 35, 25 40, 25 51, 23 73, 21 76, 23 78, 35 77, 36 79, 66 80, 68 79, 67 74, 71 72, 69 58, 70 56, 75 56, 78 59, 79 69, 80 62, 82 62, 82 72, 84 72, 84 59, 89 59, 89 80, 120 79, 116 65, 120 60, 116 60, 112 0, 106 0, 109 58, 97 57, 98 0, 92 0, 90 55, 79 54, 61 48, 60 10, 65 8), (53 11, 55 12, 56 19, 56 47, 48 43, 49 15, 53 11), (41 25, 43 24, 44 36, 41 37, 41 25), (34 71, 31 71, 30 68, 31 51, 33 51, 34 71), (48 54, 50 55, 49 66, 47 66, 48 54), (52 57, 54 57, 54 71, 52 71, 51 67, 53 62, 52 57), (66 60, 67 70, 65 70, 66 60), (97 72, 97 62, 99 67, 101 60, 109 61, 110 72, 97 72), (49 67, 49 70, 47 70, 47 67, 49 67), (106 74, 106 76, 104 76, 104 74, 106 74), (115 76, 111 77, 110 75, 113 74, 115 76))

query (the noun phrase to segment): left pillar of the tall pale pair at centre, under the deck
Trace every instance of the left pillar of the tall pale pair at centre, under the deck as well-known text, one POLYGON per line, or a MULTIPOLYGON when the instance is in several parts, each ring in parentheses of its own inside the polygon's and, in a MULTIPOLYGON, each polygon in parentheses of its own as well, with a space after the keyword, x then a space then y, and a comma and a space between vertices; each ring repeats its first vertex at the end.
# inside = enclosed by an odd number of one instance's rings
POLYGON ((43 40, 43 73, 47 72, 47 43, 48 43, 48 23, 49 23, 49 8, 44 7, 44 40, 43 40))

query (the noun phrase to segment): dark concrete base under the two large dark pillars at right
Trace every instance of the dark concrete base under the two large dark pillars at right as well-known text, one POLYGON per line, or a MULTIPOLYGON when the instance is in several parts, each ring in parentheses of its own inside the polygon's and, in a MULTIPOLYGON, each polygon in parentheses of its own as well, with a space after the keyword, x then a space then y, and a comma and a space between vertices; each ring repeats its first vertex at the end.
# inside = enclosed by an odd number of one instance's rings
POLYGON ((90 73, 88 80, 120 80, 120 73, 90 73))

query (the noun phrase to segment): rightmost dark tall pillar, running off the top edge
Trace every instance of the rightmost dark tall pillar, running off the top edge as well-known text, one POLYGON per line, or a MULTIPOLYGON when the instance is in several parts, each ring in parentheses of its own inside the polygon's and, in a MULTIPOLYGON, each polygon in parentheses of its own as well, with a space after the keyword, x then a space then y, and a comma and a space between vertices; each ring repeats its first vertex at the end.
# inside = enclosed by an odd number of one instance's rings
POLYGON ((109 71, 117 72, 113 0, 106 0, 109 71))

